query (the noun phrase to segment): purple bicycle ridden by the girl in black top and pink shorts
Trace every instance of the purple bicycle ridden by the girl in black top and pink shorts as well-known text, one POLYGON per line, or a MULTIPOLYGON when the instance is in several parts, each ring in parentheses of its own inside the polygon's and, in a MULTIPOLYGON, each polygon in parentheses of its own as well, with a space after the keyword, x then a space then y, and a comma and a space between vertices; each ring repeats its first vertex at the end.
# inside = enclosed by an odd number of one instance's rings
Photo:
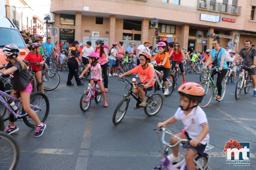
MULTIPOLYGON (((16 92, 15 95, 19 96, 19 92, 16 92)), ((8 95, 6 92, 0 90, 0 103, 9 110, 10 116, 6 119, 3 119, 3 122, 10 120, 11 122, 15 122, 18 119, 23 119, 24 123, 31 128, 34 128, 37 124, 31 119, 28 113, 22 108, 22 113, 20 113, 21 109, 21 98, 15 98, 11 95, 8 95), (7 100, 6 100, 7 99, 7 100), (8 103, 8 99, 16 102, 17 110, 14 110, 8 103)), ((45 122, 48 114, 49 114, 49 100, 47 96, 42 92, 34 92, 30 95, 30 108, 37 113, 38 118, 41 122, 45 122), (44 113, 43 113, 44 112, 44 113)), ((4 124, 0 122, 0 131, 3 131, 4 124)))

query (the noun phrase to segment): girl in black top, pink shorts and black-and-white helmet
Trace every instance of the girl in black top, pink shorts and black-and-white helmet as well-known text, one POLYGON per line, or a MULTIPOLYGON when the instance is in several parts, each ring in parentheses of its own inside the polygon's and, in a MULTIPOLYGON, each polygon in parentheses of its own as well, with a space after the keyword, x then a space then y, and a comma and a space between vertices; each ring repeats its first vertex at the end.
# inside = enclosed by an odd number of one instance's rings
MULTIPOLYGON (((17 58, 20 54, 20 51, 16 45, 10 44, 4 46, 3 53, 6 55, 6 58, 9 61, 9 63, 5 68, 0 70, 0 76, 10 74, 13 87, 11 95, 17 98, 18 96, 15 95, 15 92, 19 91, 20 97, 22 99, 23 109, 37 124, 35 126, 36 133, 34 134, 34 137, 40 137, 43 135, 43 131, 46 128, 46 124, 40 122, 37 113, 35 113, 34 110, 32 110, 29 106, 32 85, 28 79, 27 66, 22 60, 19 60, 17 58)), ((8 115, 9 114, 10 113, 8 112, 8 115)), ((7 134, 12 134, 18 130, 19 128, 13 122, 9 121, 9 126, 7 126, 4 131, 7 134)))

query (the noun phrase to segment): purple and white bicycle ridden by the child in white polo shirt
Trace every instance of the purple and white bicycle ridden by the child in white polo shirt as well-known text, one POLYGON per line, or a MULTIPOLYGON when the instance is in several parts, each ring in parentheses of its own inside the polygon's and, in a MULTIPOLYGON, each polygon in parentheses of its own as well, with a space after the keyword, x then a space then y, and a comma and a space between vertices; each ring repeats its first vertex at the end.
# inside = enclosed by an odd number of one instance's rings
MULTIPOLYGON (((168 128, 161 127, 160 130, 157 131, 158 137, 159 137, 159 133, 163 133, 162 138, 161 138, 161 142, 164 145, 164 149, 163 149, 163 155, 161 156, 160 164, 157 167, 155 167, 154 170, 187 170, 185 157, 183 158, 182 161, 177 163, 177 162, 169 161, 169 159, 167 158, 167 155, 169 154, 169 149, 174 148, 177 145, 182 146, 184 149, 189 149, 191 147, 189 145, 190 140, 181 139, 181 138, 175 136, 173 134, 173 132, 168 128), (165 133, 176 137, 176 139, 178 139, 178 142, 175 143, 174 145, 171 145, 170 143, 167 143, 164 139, 165 133), (184 142, 185 142, 185 144, 182 144, 184 142)), ((159 140, 160 140, 160 137, 159 137, 159 140)), ((200 143, 198 145, 200 145, 200 143)), ((214 148, 214 146, 211 146, 211 145, 208 144, 207 147, 204 149, 203 155, 197 154, 194 157, 193 161, 194 161, 194 164, 196 166, 196 170, 207 170, 209 160, 210 160, 210 156, 208 155, 208 153, 206 151, 210 150, 210 149, 213 149, 213 148, 214 148)))

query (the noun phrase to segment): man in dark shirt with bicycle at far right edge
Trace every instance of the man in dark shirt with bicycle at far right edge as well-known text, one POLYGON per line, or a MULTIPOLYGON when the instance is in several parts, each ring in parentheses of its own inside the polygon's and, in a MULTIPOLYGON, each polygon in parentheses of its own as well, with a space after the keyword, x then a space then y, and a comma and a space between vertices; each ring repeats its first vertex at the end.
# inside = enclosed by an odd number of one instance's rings
POLYGON ((250 39, 247 39, 244 45, 245 48, 242 48, 238 54, 235 54, 233 66, 235 66, 240 56, 244 59, 243 65, 251 66, 247 71, 253 81, 253 96, 256 96, 256 49, 252 47, 252 41, 250 39))

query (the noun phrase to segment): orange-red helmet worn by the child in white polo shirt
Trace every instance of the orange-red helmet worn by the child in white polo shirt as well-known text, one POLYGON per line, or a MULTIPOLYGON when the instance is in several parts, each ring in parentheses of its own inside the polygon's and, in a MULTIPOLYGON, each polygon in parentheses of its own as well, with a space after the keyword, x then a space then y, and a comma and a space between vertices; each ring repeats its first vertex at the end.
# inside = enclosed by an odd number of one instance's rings
POLYGON ((188 82, 179 86, 178 93, 200 103, 205 95, 204 88, 197 83, 188 82))

